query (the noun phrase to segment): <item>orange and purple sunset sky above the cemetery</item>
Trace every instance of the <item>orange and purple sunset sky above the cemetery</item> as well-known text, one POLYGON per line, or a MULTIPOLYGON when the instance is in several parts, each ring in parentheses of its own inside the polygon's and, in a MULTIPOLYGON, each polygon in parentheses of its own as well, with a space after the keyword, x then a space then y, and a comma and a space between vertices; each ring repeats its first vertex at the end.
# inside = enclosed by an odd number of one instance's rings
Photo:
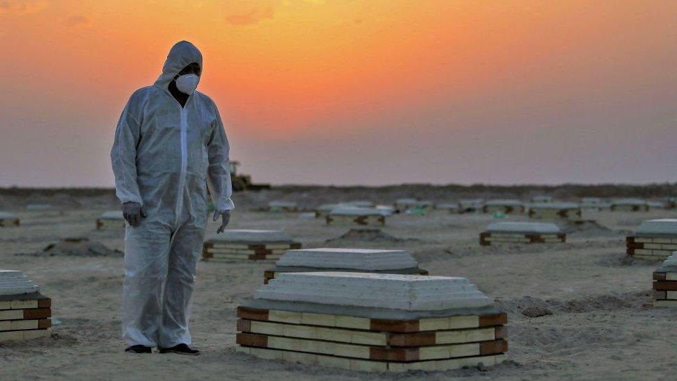
POLYGON ((674 0, 0 0, 0 187, 112 187, 179 40, 257 183, 675 181, 674 0))

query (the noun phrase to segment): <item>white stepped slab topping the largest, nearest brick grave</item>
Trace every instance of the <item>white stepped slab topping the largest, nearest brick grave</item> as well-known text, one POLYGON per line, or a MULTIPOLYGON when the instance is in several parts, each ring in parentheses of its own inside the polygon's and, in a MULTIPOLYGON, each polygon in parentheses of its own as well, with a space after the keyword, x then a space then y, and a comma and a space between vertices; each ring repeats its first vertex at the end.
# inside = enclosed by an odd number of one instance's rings
POLYGON ((280 273, 254 298, 407 311, 490 305, 466 278, 376 273, 280 273))

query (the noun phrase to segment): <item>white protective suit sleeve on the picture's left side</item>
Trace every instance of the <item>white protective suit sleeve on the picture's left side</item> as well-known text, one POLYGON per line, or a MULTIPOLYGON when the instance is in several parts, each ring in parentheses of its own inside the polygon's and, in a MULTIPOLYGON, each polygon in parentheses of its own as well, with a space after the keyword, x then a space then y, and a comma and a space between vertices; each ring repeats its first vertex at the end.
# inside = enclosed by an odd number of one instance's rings
POLYGON ((121 203, 134 202, 143 205, 137 183, 137 144, 141 133, 142 105, 136 104, 134 95, 122 111, 113 148, 110 150, 110 162, 115 176, 115 194, 121 203))

